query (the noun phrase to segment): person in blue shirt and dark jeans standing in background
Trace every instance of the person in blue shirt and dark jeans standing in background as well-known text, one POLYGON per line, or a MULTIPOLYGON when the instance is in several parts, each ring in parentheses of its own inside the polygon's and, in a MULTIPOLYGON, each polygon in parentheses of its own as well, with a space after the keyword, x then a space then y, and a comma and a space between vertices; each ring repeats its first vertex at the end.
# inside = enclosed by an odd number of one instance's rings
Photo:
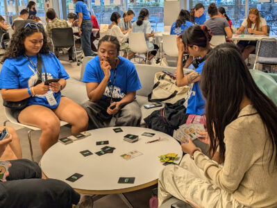
POLYGON ((92 34, 92 21, 90 12, 83 0, 73 0, 76 3, 75 11, 78 15, 78 31, 81 35, 81 43, 85 56, 92 55, 90 35, 92 34))

